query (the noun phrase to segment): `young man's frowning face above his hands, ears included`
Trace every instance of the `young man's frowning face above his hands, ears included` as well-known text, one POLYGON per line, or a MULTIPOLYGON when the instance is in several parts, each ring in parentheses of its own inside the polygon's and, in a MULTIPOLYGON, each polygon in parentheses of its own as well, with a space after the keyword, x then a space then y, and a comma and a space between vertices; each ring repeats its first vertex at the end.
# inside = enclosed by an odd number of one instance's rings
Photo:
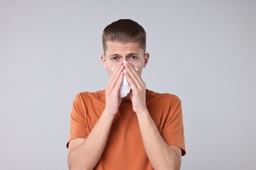
POLYGON ((138 69, 141 76, 142 68, 148 63, 149 54, 144 54, 139 42, 106 42, 107 50, 105 56, 101 56, 103 66, 108 69, 108 74, 112 74, 112 69, 120 61, 127 61, 138 69))

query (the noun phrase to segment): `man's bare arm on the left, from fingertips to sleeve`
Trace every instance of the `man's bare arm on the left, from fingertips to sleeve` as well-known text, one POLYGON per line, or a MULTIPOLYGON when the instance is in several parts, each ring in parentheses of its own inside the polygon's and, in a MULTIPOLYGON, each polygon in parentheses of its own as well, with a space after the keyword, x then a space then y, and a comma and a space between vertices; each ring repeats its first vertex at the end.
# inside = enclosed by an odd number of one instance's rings
POLYGON ((68 147, 69 169, 93 169, 106 146, 114 116, 121 103, 118 97, 123 65, 117 65, 106 86, 106 106, 87 139, 74 139, 68 147))

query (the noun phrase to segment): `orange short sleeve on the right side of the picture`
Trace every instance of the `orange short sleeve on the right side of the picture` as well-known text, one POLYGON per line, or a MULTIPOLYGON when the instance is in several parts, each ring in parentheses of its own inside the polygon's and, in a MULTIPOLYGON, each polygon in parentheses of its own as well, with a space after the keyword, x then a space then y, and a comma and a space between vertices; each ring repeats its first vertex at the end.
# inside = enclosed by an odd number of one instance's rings
POLYGON ((175 101, 170 106, 161 135, 167 144, 181 148, 182 156, 186 154, 181 100, 175 101))

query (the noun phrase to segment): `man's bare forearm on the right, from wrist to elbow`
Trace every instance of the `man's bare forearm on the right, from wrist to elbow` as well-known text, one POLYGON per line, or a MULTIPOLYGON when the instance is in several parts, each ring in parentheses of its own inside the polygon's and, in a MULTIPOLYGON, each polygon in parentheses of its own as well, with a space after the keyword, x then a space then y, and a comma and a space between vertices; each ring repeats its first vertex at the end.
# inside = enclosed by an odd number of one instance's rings
POLYGON ((154 169, 180 169, 180 157, 165 143, 148 111, 137 117, 144 148, 154 169))

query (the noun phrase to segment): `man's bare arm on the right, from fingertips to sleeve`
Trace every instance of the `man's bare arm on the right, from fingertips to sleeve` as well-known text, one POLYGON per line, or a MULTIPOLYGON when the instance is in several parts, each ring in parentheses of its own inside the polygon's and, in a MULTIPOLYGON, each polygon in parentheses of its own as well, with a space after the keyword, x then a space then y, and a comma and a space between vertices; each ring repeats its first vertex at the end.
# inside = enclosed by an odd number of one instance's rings
POLYGON ((150 163, 154 169, 180 169, 181 149, 165 143, 146 108, 146 85, 130 63, 125 65, 125 69, 125 76, 132 88, 133 110, 137 114, 142 141, 150 163))

